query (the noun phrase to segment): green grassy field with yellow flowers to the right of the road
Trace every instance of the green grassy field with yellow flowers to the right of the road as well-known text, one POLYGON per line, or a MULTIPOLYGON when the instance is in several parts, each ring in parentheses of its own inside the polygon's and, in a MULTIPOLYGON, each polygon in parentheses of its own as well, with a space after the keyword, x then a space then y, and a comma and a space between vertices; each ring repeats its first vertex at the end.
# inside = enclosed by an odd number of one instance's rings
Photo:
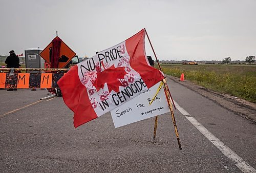
POLYGON ((162 64, 161 67, 167 75, 180 77, 184 73, 185 80, 256 103, 256 66, 162 64))

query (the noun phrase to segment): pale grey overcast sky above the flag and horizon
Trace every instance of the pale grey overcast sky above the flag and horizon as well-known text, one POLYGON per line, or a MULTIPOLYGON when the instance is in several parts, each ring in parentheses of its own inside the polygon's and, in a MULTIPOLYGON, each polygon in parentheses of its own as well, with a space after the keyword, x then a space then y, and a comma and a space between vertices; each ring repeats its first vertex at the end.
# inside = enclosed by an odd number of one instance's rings
POLYGON ((91 57, 146 28, 160 60, 256 56, 255 0, 0 2, 0 55, 44 49, 58 31, 79 57, 91 57))

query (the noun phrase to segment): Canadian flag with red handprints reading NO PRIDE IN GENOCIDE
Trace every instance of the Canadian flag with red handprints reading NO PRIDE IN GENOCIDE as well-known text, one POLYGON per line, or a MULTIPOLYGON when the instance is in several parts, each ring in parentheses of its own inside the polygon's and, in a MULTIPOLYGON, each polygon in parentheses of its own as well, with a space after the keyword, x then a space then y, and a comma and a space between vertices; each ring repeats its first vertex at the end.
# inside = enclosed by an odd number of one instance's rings
POLYGON ((145 30, 74 66, 58 82, 74 126, 91 121, 161 81, 145 54, 145 30))

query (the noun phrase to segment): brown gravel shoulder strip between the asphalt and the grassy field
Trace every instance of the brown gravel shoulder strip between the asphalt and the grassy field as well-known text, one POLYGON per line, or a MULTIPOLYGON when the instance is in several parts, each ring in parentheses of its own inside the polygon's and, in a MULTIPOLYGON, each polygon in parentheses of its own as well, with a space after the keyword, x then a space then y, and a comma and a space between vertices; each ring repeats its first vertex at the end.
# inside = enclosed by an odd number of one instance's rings
POLYGON ((249 101, 240 99, 235 96, 230 96, 228 94, 218 93, 215 91, 208 90, 200 85, 189 81, 179 81, 179 78, 173 76, 167 76, 167 79, 171 79, 184 87, 193 90, 202 96, 218 103, 225 109, 232 111, 246 119, 251 120, 253 123, 256 123, 256 104, 249 101))

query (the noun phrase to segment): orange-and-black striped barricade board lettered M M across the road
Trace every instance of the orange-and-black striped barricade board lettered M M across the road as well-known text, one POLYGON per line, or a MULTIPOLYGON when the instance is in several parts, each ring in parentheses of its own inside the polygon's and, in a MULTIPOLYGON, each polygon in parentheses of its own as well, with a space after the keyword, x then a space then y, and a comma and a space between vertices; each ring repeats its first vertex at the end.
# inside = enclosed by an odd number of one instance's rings
POLYGON ((64 73, 0 73, 0 89, 58 88, 64 73))

